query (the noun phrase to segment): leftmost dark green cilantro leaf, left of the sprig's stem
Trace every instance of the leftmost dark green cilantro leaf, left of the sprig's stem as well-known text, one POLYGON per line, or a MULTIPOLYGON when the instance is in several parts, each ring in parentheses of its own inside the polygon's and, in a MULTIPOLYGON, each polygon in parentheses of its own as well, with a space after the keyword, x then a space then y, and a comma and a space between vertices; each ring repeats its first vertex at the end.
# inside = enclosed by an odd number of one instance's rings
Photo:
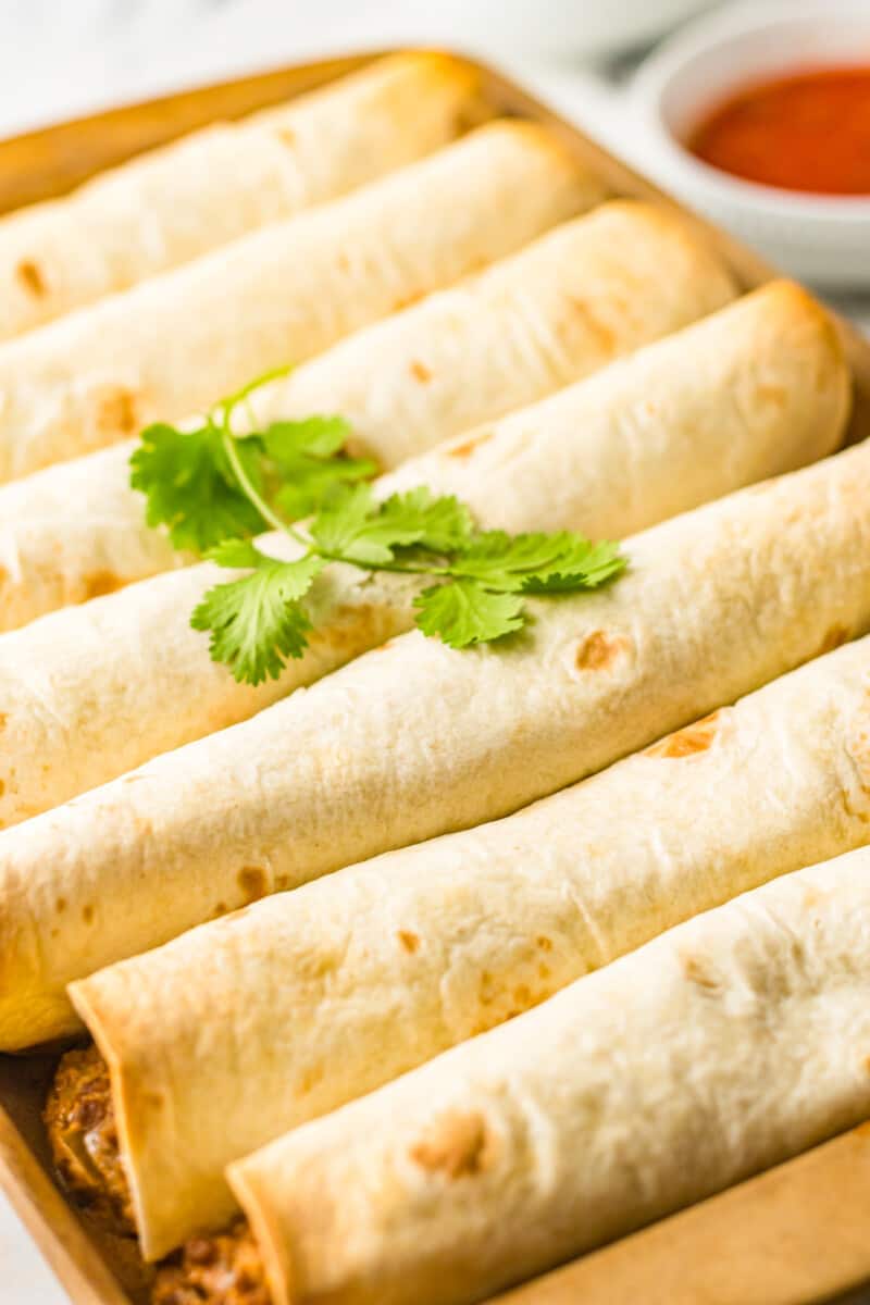
POLYGON ((203 553, 228 536, 256 535, 265 525, 210 424, 189 432, 163 423, 147 427, 130 458, 130 484, 146 497, 147 525, 167 526, 175 548, 203 553))

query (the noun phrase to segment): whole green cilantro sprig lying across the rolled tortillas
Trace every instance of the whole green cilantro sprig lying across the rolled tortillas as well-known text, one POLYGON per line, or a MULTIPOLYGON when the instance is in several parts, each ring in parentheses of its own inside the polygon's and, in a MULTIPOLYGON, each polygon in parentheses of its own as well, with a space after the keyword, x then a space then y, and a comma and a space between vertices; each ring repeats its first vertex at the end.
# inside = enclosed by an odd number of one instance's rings
MULTIPOLYGON (((342 418, 237 433, 236 410, 275 375, 217 405, 196 429, 149 427, 132 458, 147 523, 166 527, 177 548, 244 573, 213 586, 190 617, 240 683, 277 679, 303 655, 314 628, 305 599, 330 562, 419 577, 416 625, 455 649, 523 629, 530 595, 597 589, 625 569, 614 543, 479 530, 464 504, 425 487, 378 501, 367 483, 374 465, 347 455, 342 418), (292 561, 253 542, 270 526, 297 545, 292 561)), ((256 424, 250 414, 247 424, 256 424)))

